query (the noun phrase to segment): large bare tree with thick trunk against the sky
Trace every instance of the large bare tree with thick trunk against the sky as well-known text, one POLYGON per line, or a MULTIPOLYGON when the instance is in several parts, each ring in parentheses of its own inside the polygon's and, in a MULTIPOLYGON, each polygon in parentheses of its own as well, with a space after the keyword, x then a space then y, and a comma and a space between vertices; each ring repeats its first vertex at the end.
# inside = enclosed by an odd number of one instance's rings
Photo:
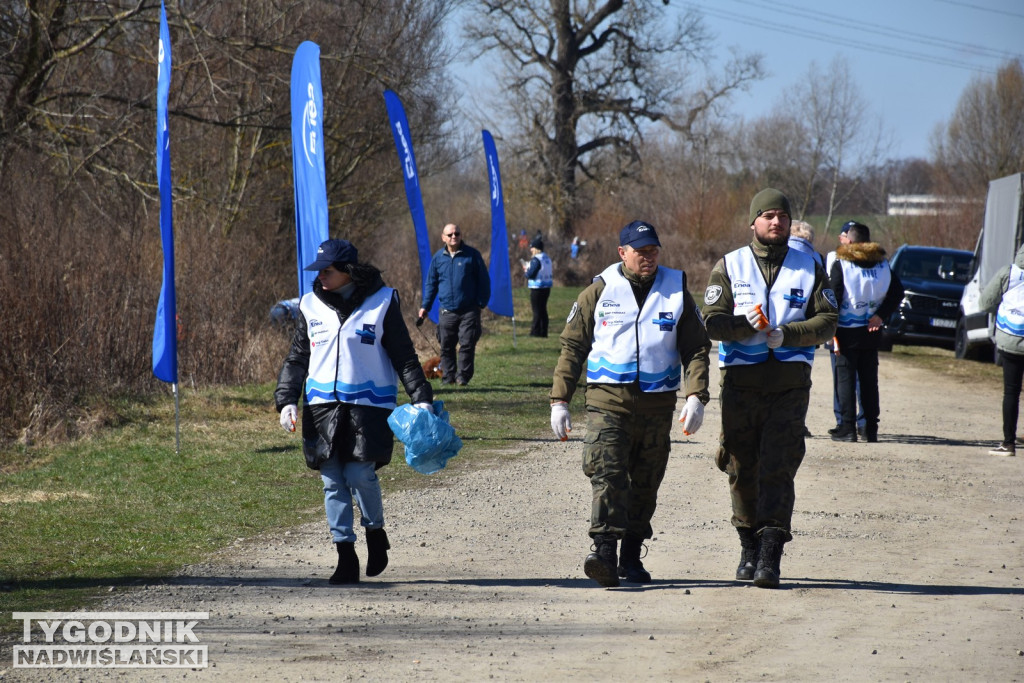
POLYGON ((643 126, 689 130, 701 112, 762 76, 759 55, 735 57, 718 79, 687 88, 687 66, 709 56, 696 10, 624 0, 483 0, 467 37, 505 66, 504 103, 517 152, 530 157, 549 229, 571 233, 581 181, 629 172, 643 126), (686 97, 687 92, 696 90, 686 97), (681 115, 679 104, 690 102, 681 115))

